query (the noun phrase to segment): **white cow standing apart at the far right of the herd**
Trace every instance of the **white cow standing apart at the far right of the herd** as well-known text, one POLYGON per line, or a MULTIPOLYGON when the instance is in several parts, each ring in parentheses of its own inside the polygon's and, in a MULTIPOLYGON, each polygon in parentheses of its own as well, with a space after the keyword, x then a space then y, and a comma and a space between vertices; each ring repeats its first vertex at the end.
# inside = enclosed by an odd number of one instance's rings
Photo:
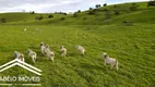
POLYGON ((115 66, 116 70, 118 71, 118 61, 114 58, 110 58, 109 55, 107 55, 107 53, 103 53, 104 60, 105 60, 105 66, 107 64, 111 65, 111 69, 115 66))

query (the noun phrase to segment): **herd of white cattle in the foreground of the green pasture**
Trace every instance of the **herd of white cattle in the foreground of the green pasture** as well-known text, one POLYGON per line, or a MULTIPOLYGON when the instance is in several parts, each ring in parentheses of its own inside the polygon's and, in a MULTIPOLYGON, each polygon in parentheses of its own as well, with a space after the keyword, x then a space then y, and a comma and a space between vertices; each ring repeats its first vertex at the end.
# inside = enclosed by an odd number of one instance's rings
MULTIPOLYGON (((79 53, 85 55, 85 48, 82 47, 82 46, 75 46, 76 50, 79 51, 79 53)), ((53 62, 53 59, 55 59, 55 52, 50 50, 49 46, 48 45, 45 45, 44 42, 40 42, 40 52, 43 55, 46 55, 47 58, 49 58, 49 60, 51 60, 53 62)), ((67 57, 67 48, 64 46, 61 46, 60 47, 60 52, 61 52, 61 57, 62 58, 65 58, 67 57)), ((24 59, 24 54, 19 52, 19 51, 14 51, 14 55, 15 55, 15 59, 19 59, 21 61, 25 61, 24 59)), ((37 59, 37 53, 31 49, 27 50, 27 55, 28 58, 32 59, 32 61, 35 63, 36 62, 36 59, 37 59)), ((118 60, 114 59, 114 58, 110 58, 107 53, 103 53, 103 58, 104 58, 104 61, 105 61, 105 66, 107 64, 110 64, 111 65, 111 69, 112 67, 116 67, 116 70, 118 70, 118 60)))

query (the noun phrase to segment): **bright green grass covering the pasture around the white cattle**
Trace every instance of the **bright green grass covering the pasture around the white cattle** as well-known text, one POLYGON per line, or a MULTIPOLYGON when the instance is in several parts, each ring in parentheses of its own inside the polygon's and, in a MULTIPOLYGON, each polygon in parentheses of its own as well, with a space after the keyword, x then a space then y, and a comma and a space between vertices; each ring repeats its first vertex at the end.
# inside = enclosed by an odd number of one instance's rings
MULTIPOLYGON (((142 9, 145 8, 145 3, 141 4, 142 9)), ((122 13, 112 16, 110 25, 85 12, 80 13, 80 17, 65 15, 65 21, 60 21, 61 15, 58 15, 35 22, 38 14, 27 14, 26 22, 11 18, 0 26, 0 65, 13 60, 14 51, 20 51, 25 54, 27 63, 43 71, 41 87, 155 87, 154 13, 154 8, 122 13), (83 16, 92 18, 83 22, 83 16), (135 22, 134 25, 121 24, 124 17, 135 22), (56 53, 55 62, 40 54, 41 41, 56 53), (84 57, 75 50, 76 45, 86 49, 84 57), (67 58, 61 58, 60 46, 68 49, 67 58), (27 58, 28 48, 37 52, 35 64, 27 58), (103 52, 119 61, 118 72, 104 66, 103 52)), ((0 73, 0 76, 8 74, 32 73, 16 66, 0 73)))

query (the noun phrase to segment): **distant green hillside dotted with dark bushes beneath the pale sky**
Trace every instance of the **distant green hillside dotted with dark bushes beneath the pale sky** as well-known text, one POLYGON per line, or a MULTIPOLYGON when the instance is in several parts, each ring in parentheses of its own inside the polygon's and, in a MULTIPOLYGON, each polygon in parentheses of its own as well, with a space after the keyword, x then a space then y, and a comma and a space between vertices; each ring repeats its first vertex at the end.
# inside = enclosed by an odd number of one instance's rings
MULTIPOLYGON (((121 3, 98 9, 91 9, 75 14, 31 14, 31 13, 3 13, 0 18, 4 17, 4 24, 32 24, 32 25, 104 25, 120 23, 155 23, 155 8, 147 7, 147 2, 121 3), (43 20, 36 20, 38 16, 43 20)), ((3 24, 3 23, 1 23, 3 24)))

